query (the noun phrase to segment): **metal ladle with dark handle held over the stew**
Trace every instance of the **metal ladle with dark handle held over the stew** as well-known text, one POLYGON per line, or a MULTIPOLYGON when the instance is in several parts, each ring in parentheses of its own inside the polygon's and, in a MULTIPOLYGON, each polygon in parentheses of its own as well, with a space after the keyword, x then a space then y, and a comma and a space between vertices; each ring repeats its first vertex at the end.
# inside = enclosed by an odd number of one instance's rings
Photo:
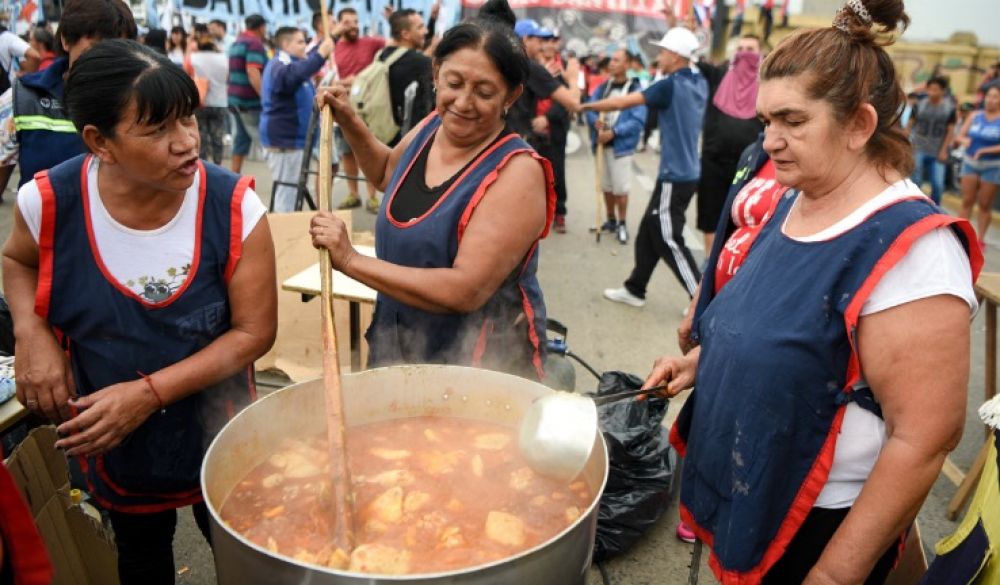
POLYGON ((535 400, 521 419, 521 455, 536 472, 571 481, 583 471, 597 437, 597 407, 666 389, 656 386, 604 396, 552 392, 535 400))

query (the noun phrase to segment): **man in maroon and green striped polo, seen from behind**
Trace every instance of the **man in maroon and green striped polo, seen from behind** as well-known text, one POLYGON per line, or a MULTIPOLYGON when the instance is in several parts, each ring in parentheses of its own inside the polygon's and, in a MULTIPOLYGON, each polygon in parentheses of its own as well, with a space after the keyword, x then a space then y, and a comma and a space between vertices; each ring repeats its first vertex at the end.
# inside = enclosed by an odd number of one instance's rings
POLYGON ((229 108, 236 114, 233 140, 233 172, 243 168, 243 159, 260 142, 261 73, 267 64, 267 23, 259 14, 244 21, 246 31, 229 48, 229 108))

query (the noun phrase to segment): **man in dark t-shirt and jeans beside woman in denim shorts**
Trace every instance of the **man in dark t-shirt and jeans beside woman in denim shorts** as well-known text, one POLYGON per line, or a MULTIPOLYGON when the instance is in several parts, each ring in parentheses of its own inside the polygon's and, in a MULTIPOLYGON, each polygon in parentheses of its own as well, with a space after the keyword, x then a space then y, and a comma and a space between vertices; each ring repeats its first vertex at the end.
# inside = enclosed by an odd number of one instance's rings
POLYGON ((906 128, 913 145, 916 167, 912 180, 922 185, 931 183, 931 199, 941 204, 944 192, 945 164, 948 162, 949 138, 955 129, 955 104, 945 97, 948 80, 932 77, 927 81, 927 97, 917 102, 906 128))

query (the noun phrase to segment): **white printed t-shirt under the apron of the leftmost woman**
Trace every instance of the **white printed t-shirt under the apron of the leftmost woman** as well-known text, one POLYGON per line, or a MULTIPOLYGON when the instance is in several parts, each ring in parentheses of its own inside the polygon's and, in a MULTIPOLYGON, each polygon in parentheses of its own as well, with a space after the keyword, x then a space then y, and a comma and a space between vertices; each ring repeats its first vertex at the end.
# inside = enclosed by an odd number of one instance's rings
MULTIPOLYGON (((187 278, 194 259, 195 223, 198 216, 198 190, 201 172, 184 195, 177 214, 154 230, 135 230, 111 217, 97 190, 100 160, 91 159, 87 169, 91 225, 97 250, 108 271, 120 284, 149 302, 162 302, 187 278)), ((42 196, 34 180, 17 192, 21 211, 31 236, 38 241, 42 224, 42 196)), ((252 189, 243 196, 243 240, 245 241, 267 208, 252 189)))

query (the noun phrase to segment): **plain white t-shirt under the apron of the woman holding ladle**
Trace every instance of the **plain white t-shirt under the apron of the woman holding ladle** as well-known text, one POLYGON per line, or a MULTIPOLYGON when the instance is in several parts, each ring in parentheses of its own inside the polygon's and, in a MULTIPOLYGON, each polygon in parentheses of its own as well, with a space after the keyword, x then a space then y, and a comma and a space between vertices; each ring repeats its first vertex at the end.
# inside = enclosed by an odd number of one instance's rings
MULTIPOLYGON (((915 195, 924 196, 913 182, 902 179, 829 228, 794 239, 801 242, 829 240, 857 227, 878 209, 915 195)), ((798 201, 793 203, 797 204, 798 201)), ((861 306, 861 316, 937 295, 959 297, 968 303, 969 314, 973 315, 979 304, 971 273, 969 257, 958 237, 951 228, 938 228, 918 238, 906 255, 885 273, 861 306)), ((864 364, 861 367, 864 370, 864 364)), ((864 388, 867 383, 862 378, 855 387, 864 388)), ((837 437, 830 476, 815 506, 852 506, 871 475, 886 438, 885 421, 857 403, 849 403, 837 437)))

